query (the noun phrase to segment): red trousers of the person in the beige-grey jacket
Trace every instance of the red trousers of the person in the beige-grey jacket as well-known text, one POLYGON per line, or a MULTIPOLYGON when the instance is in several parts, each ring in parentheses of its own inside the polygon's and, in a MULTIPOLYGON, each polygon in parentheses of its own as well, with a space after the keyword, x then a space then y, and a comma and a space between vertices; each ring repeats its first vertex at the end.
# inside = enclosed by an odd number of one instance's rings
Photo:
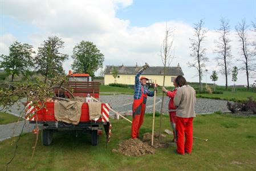
POLYGON ((177 153, 192 152, 193 145, 193 117, 176 117, 177 153), (185 143, 184 143, 185 137, 185 143))

